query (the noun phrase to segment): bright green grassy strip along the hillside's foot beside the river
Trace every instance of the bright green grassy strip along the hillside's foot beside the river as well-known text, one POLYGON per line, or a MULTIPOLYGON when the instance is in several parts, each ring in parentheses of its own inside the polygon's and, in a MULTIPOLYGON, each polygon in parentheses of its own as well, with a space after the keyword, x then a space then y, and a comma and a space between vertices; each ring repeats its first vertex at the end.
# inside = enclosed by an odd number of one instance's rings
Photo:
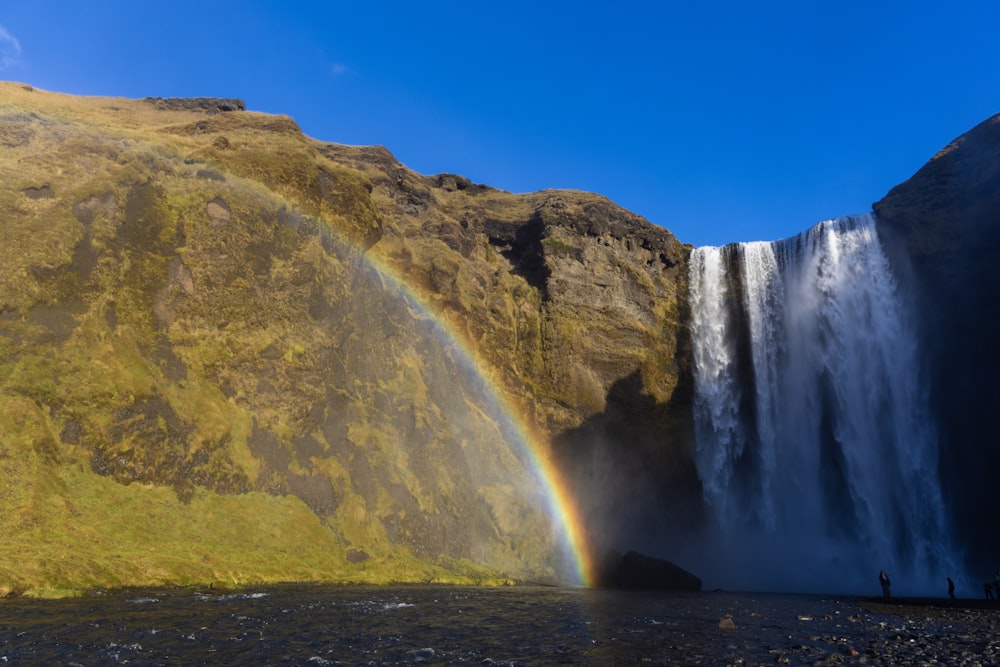
POLYGON ((74 452, 58 467, 38 451, 44 417, 5 404, 0 592, 59 595, 144 585, 241 586, 282 581, 502 582, 471 562, 427 563, 399 550, 351 563, 344 544, 294 496, 220 495, 199 490, 181 502, 152 484, 121 485, 92 474, 74 452), (15 412, 19 410, 19 412, 15 412), (11 415, 33 424, 13 425, 11 415), (24 445, 36 443, 32 450, 24 445))

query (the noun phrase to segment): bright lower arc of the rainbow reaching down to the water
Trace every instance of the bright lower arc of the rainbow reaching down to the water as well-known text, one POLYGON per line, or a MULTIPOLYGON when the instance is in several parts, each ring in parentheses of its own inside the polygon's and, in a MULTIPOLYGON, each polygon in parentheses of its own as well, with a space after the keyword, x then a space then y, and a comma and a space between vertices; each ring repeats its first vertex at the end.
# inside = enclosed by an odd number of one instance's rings
POLYGON ((509 427, 505 429, 505 433, 515 441, 512 444, 527 456, 534 474, 541 482, 548 505, 546 508, 548 515, 555 520, 557 529, 561 533, 562 546, 566 549, 566 556, 571 563, 575 583, 584 587, 592 585, 593 563, 587 549, 583 521, 562 473, 549 456, 548 447, 543 444, 544 439, 506 397, 506 393, 492 378, 486 362, 427 299, 413 290, 392 266, 373 253, 363 253, 361 258, 393 291, 405 298, 433 324, 437 334, 442 337, 442 342, 458 353, 466 370, 472 373, 486 390, 487 395, 495 401, 495 407, 507 422, 505 426, 509 427))

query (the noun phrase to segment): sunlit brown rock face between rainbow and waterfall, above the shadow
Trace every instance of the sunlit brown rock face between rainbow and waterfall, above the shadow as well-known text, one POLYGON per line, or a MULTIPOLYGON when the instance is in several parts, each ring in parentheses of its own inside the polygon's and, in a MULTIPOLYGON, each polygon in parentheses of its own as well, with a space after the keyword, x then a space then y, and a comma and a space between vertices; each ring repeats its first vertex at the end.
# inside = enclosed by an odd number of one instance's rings
POLYGON ((515 195, 420 176, 384 149, 321 150, 374 184, 372 252, 462 321, 549 433, 602 412, 637 371, 660 402, 684 392, 688 250, 669 231, 598 195, 515 195))

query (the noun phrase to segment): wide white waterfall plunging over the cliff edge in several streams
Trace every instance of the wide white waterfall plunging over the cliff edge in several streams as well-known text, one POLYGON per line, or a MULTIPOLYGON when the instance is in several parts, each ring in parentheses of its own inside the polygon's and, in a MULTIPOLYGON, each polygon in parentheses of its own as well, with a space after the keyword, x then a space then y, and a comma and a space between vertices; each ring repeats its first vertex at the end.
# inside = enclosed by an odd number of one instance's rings
POLYGON ((698 248, 690 278, 720 585, 864 593, 885 568, 900 594, 940 594, 959 573, 937 437, 873 216, 698 248))

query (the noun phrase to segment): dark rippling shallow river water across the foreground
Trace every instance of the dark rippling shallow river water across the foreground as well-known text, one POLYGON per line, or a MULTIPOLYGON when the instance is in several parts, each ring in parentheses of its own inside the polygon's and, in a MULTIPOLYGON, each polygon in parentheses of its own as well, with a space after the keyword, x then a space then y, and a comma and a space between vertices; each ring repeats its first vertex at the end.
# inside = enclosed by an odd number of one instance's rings
POLYGON ((69 600, 0 600, 0 661, 774 665, 1000 660, 1000 639, 966 617, 903 618, 866 612, 857 603, 811 596, 530 587, 130 589, 69 600), (732 617, 733 629, 719 627, 725 615, 732 617))

